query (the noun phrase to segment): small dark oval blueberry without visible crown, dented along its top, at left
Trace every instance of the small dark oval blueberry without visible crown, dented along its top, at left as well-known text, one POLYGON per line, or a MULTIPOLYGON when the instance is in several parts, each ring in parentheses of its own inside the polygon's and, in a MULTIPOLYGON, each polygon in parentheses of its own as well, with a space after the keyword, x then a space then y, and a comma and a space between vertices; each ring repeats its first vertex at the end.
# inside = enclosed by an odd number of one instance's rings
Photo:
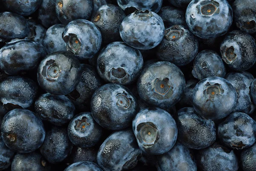
POLYGON ((75 106, 66 96, 42 94, 35 101, 35 113, 54 125, 68 123, 75 114, 75 106))

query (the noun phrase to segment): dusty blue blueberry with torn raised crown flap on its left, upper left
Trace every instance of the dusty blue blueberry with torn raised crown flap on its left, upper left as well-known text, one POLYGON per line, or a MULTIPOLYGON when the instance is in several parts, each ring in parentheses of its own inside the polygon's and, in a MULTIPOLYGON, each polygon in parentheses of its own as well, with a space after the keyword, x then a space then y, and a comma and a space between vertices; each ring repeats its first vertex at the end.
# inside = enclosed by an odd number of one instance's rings
POLYGON ((63 32, 67 51, 75 54, 79 60, 92 58, 100 49, 102 35, 97 26, 87 20, 73 20, 63 32))

